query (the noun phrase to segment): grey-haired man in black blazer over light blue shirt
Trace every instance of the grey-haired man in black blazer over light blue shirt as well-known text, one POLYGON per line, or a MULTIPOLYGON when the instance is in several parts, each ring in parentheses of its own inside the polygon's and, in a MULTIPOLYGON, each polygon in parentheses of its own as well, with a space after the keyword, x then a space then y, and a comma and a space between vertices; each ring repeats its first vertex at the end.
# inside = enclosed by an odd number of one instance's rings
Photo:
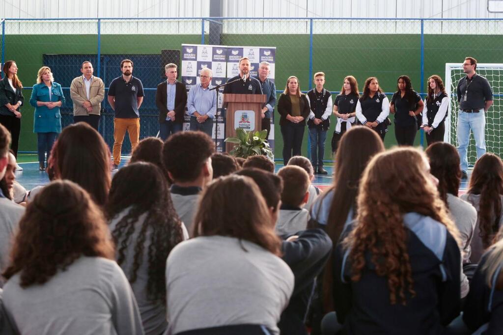
POLYGON ((157 85, 155 91, 155 104, 159 110, 159 137, 163 141, 171 134, 182 131, 184 123, 187 89, 177 80, 177 68, 173 63, 164 66, 166 80, 157 85))

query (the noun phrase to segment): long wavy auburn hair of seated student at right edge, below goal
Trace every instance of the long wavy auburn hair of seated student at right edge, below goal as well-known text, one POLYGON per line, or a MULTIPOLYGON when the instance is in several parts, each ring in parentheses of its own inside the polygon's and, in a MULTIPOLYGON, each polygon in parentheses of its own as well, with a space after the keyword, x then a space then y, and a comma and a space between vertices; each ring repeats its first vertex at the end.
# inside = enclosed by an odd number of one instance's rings
POLYGON ((499 227, 503 225, 503 162, 493 153, 480 157, 470 179, 468 191, 461 196, 478 213, 471 241, 471 263, 478 263, 499 227))

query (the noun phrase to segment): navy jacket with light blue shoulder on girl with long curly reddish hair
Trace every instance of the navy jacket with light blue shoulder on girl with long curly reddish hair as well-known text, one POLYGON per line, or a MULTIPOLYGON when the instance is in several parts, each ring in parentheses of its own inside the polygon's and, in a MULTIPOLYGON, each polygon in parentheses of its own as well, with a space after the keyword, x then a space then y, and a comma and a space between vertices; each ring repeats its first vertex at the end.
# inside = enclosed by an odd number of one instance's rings
MULTIPOLYGON (((354 223, 353 223, 354 224, 354 223)), ((347 226, 344 236, 353 224, 347 226)), ((447 228, 417 213, 404 215, 413 290, 406 305, 391 305, 387 278, 366 255, 358 282, 351 280, 349 250, 339 244, 333 257, 333 301, 348 334, 441 334, 460 311, 461 252, 447 228)))

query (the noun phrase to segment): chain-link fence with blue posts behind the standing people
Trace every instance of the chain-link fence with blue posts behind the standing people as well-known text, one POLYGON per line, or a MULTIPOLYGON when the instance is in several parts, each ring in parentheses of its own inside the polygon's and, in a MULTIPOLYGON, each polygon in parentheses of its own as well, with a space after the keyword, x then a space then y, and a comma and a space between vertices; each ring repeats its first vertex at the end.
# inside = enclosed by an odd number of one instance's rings
MULTIPOLYGON (((396 91, 397 77, 406 74, 414 90, 424 97, 427 78, 432 74, 444 78, 446 63, 461 63, 466 56, 483 63, 503 62, 503 20, 497 19, 8 19, 2 28, 2 62, 16 60, 26 88, 25 97, 29 98, 30 87, 42 65, 50 66, 55 81, 65 88, 64 125, 72 122, 68 89, 71 80, 80 75, 83 60, 93 62, 95 75, 108 88, 110 81, 120 75, 120 61, 132 59, 133 75, 142 80, 145 89, 140 109, 141 138, 155 136, 158 131, 154 97, 157 83, 164 78, 166 59, 162 50, 181 50, 182 44, 276 47, 278 94, 284 90, 288 76, 296 75, 301 90, 307 91, 313 87, 312 75, 323 71, 325 88, 333 97, 350 74, 357 78, 361 91, 365 79, 376 76, 388 98, 396 91)), ((111 145, 113 113, 106 99, 103 107, 100 132, 111 145)), ((33 109, 25 104, 23 112, 20 148, 34 151, 33 109)), ((331 121, 333 127, 335 120, 331 121)), ((276 148, 282 147, 280 133, 276 124, 276 148)), ((307 155, 305 133, 303 147, 307 155)), ((415 144, 420 143, 422 134, 418 133, 415 144)), ((396 144, 393 126, 385 144, 396 144)), ((129 142, 125 140, 123 152, 128 149, 129 142)), ((276 158, 280 156, 277 150, 276 158)), ((325 159, 330 158, 326 145, 325 159)))

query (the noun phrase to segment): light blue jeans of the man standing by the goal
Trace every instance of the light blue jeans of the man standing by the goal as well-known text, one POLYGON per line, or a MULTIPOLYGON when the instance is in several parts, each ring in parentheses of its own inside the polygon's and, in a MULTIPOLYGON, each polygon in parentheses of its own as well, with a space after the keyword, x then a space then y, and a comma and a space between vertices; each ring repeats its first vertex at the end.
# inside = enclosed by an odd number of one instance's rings
POLYGON ((481 109, 478 113, 458 112, 458 153, 461 160, 461 171, 468 169, 468 143, 470 142, 470 130, 473 132, 477 159, 485 153, 485 113, 481 109))

